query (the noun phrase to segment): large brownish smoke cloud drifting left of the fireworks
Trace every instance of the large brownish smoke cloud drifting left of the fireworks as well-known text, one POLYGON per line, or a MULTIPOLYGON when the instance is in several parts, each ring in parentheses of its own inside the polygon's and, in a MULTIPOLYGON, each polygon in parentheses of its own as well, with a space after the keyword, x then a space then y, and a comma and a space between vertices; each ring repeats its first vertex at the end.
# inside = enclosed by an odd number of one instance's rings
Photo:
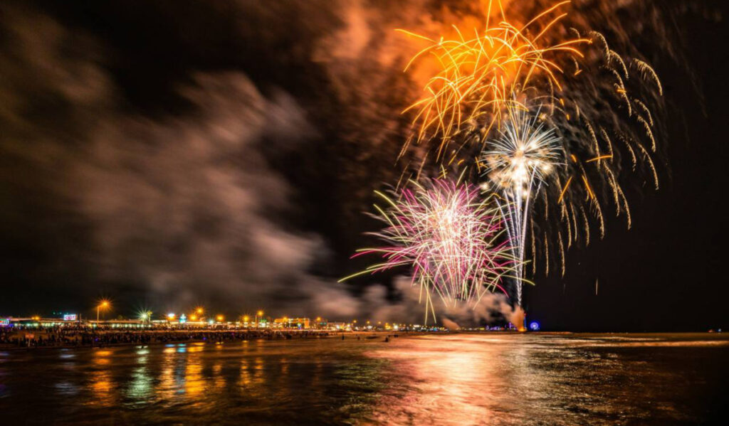
MULTIPOLYGON (((311 272, 330 249, 292 226, 300 194, 271 163, 321 135, 286 90, 263 95, 241 71, 191 71, 174 89, 182 113, 130 111, 93 37, 20 7, 6 17, 2 177, 20 204, 7 210, 39 212, 47 228, 31 237, 51 258, 33 265, 33 285, 90 296, 121 286, 160 309, 402 313, 381 289, 355 297, 311 272), (77 270, 83 280, 69 283, 77 270)), ((16 231, 26 229, 4 228, 16 231)))

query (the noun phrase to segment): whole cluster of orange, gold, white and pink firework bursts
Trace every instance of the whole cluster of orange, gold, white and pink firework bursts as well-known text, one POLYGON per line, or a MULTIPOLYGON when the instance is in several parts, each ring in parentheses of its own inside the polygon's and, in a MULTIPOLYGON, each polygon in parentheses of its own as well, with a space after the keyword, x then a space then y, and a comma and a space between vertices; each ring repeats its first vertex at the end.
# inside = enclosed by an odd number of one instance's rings
POLYGON ((548 275, 556 262, 564 275, 566 250, 589 244, 593 227, 604 237, 607 212, 631 226, 622 184, 648 176, 658 189, 660 114, 652 110, 663 106, 663 87, 646 61, 623 58, 601 33, 575 28, 580 19, 571 20, 570 4, 555 2, 517 23, 494 0, 481 28, 453 25, 453 36, 440 38, 398 30, 427 43, 405 71, 424 66, 430 75, 424 95, 404 111, 412 132, 400 157, 420 151, 416 181, 430 161, 441 178, 482 181, 483 193, 443 181, 404 192, 391 202, 394 210, 379 210, 389 227, 376 235, 392 245, 364 251, 386 259, 366 272, 411 264, 413 283, 447 303, 477 302, 481 291, 508 277, 521 306, 525 264, 534 275, 539 260, 548 275), (496 210, 475 208, 446 228, 424 219, 445 212, 445 200, 458 200, 451 207, 462 209, 481 206, 478 197, 496 210), (493 256, 509 261, 485 262, 493 256))

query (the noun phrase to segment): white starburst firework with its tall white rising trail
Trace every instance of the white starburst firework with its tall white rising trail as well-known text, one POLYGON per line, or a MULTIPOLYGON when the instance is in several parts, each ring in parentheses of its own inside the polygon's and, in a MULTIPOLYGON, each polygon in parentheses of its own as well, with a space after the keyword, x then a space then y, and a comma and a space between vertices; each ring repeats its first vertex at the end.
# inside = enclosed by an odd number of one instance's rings
POLYGON ((526 227, 531 222, 529 203, 560 161, 562 149, 555 130, 539 122, 539 110, 531 114, 523 107, 512 107, 508 116, 499 138, 486 142, 482 161, 485 175, 506 200, 499 208, 507 218, 510 240, 515 242, 516 301, 521 306, 526 227))

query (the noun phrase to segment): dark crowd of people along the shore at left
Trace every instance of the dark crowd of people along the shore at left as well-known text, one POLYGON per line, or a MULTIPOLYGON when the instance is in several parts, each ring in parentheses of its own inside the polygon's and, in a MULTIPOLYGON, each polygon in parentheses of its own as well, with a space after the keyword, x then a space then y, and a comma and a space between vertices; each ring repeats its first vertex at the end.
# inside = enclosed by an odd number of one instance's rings
POLYGON ((249 339, 293 339, 328 336, 327 331, 147 329, 119 330, 87 326, 3 327, 0 347, 104 347, 116 344, 229 342, 249 339))

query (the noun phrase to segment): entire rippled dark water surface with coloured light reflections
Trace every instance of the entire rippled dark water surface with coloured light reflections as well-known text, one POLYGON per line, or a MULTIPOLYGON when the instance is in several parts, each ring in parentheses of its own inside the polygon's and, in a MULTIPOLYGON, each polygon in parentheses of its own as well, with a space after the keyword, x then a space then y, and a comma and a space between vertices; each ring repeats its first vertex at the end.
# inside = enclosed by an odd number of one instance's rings
POLYGON ((712 334, 0 351, 0 425, 726 425, 728 361, 712 334))

